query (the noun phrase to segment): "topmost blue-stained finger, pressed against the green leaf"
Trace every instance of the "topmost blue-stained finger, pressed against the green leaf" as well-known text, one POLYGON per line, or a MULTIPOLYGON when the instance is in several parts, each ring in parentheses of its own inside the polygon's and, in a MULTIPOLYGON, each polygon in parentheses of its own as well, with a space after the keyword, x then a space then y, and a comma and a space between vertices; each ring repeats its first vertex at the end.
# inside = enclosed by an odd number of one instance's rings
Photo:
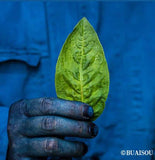
POLYGON ((58 98, 38 98, 25 100, 27 116, 56 115, 78 120, 89 120, 93 116, 93 108, 89 105, 58 98))

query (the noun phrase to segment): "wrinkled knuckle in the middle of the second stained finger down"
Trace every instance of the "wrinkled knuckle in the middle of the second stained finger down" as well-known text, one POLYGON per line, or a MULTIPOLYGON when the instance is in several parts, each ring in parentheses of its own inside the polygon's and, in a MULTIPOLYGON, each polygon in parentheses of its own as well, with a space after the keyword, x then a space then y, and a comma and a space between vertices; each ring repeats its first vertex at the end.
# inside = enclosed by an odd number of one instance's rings
POLYGON ((41 122, 41 127, 42 127, 43 130, 54 131, 56 129, 56 118, 55 118, 55 116, 43 118, 42 122, 41 122))

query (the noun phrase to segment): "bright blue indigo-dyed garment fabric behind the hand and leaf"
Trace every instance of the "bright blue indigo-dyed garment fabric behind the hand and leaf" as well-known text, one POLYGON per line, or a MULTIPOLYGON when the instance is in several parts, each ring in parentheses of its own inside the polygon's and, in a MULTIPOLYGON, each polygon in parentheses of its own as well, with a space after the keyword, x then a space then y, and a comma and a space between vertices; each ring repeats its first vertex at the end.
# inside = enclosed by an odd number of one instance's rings
POLYGON ((23 98, 56 97, 55 65, 76 23, 87 17, 110 71, 110 93, 84 140, 84 160, 153 160, 121 150, 155 148, 154 2, 0 2, 0 160, 7 151, 9 106, 23 98))

